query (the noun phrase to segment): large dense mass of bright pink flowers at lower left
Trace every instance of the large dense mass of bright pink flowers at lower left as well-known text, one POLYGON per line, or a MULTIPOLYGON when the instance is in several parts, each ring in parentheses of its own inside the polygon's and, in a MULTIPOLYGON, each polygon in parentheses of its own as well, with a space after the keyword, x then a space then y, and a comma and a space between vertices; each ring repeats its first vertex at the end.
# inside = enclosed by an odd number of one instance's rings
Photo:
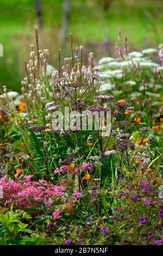
POLYGON ((45 180, 32 181, 33 175, 23 180, 11 180, 5 175, 0 179, 3 187, 3 202, 5 204, 16 203, 27 208, 33 207, 36 202, 45 202, 46 206, 53 204, 54 197, 61 197, 65 192, 64 186, 55 186, 45 180))

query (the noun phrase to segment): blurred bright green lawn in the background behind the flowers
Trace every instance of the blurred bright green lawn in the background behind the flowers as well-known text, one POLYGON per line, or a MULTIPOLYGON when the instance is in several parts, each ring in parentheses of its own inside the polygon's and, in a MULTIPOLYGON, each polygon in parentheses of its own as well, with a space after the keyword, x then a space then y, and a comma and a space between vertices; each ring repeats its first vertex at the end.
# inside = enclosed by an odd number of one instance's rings
MULTIPOLYGON (((117 41, 118 26, 128 35, 129 45, 135 48, 158 47, 163 43, 162 0, 112 0, 108 13, 99 4, 101 0, 72 0, 70 26, 76 44, 85 42, 117 41)), ((58 47, 58 32, 63 0, 41 0, 43 29, 54 34, 44 42, 53 54, 58 47), (49 46, 50 45, 50 46, 49 46)), ((0 0, 0 43, 4 57, 0 58, 0 85, 19 90, 23 78, 23 59, 34 41, 36 24, 33 0, 0 0), (28 39, 28 40, 27 40, 28 39)), ((109 46, 108 46, 109 47, 109 46)), ((103 48, 101 57, 103 57, 103 48)), ((55 56, 51 59, 55 65, 55 56)))

